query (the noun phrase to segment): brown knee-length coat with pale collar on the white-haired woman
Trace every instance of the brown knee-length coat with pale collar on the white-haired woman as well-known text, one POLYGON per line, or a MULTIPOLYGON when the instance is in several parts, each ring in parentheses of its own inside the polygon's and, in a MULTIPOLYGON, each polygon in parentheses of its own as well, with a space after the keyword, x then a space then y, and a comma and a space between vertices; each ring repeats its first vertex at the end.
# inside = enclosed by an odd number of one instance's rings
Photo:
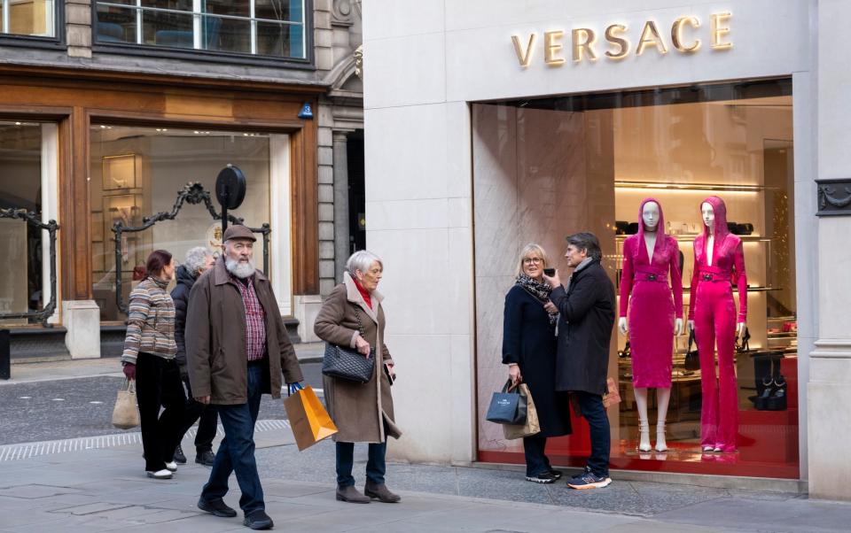
POLYGON ((348 273, 343 274, 343 282, 334 287, 324 301, 314 326, 316 335, 324 341, 354 348, 360 314, 363 339, 372 347, 381 347, 376 350, 380 355, 373 358, 375 371, 370 382, 359 383, 323 376, 325 405, 340 430, 334 435, 334 440, 344 443, 380 443, 387 436, 402 436, 394 422, 393 396, 390 394, 390 382, 384 373, 384 363, 393 360, 384 344, 383 297, 377 291, 371 292, 370 296, 371 309, 363 301, 352 277, 348 273))

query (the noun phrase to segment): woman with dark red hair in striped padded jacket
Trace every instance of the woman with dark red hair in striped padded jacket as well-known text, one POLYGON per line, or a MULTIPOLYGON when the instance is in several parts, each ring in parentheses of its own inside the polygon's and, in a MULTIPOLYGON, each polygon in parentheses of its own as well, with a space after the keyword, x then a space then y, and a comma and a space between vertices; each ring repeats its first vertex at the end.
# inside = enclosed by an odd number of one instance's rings
POLYGON ((177 470, 175 448, 186 404, 175 359, 175 303, 166 290, 175 275, 174 259, 168 251, 152 251, 145 271, 144 281, 130 293, 121 364, 124 375, 137 381, 144 469, 148 477, 169 479, 177 470), (165 407, 161 414, 160 406, 165 407))

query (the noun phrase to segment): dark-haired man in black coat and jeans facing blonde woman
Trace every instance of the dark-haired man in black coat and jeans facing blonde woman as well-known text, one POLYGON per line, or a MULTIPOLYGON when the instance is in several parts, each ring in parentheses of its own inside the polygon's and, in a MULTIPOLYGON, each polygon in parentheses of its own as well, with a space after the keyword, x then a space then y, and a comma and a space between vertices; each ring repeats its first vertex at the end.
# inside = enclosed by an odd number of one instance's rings
POLYGON ((609 341, 614 327, 614 286, 605 274, 600 242, 591 233, 567 237, 567 266, 574 269, 568 287, 561 285, 558 271, 544 276, 550 301, 558 307, 558 354, 556 390, 568 390, 579 400, 588 421, 591 454, 585 470, 567 485, 574 489, 599 489, 612 483, 609 477, 611 435, 603 395, 609 365, 609 341))

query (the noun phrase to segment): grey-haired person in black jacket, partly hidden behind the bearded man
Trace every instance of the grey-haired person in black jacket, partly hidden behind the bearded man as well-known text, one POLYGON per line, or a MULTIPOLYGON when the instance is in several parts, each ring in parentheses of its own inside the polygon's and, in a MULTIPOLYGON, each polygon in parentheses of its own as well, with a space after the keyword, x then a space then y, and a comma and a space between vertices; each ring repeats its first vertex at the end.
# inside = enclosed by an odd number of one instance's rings
POLYGON ((177 367, 180 368, 180 379, 187 390, 188 401, 183 416, 183 425, 180 428, 180 437, 175 450, 175 460, 185 463, 186 456, 179 444, 183 440, 192 425, 198 421, 198 432, 195 434, 195 462, 205 467, 212 467, 215 455, 213 454, 213 439, 215 438, 216 421, 214 406, 205 406, 195 401, 192 396, 192 387, 189 382, 189 371, 186 369, 186 343, 184 333, 186 329, 186 307, 189 305, 189 291, 201 274, 213 266, 215 259, 213 254, 204 246, 196 246, 186 252, 186 260, 176 270, 177 284, 171 291, 171 299, 175 301, 175 342, 177 344, 177 367))

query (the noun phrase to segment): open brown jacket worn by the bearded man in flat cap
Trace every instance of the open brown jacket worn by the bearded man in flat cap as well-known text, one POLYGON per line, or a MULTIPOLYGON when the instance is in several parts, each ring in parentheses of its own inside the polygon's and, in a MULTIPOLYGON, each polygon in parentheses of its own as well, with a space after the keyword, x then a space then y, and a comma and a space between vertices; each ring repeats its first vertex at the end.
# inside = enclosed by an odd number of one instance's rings
MULTIPOLYGON (((263 392, 281 396, 281 369, 287 383, 301 382, 301 367, 269 279, 259 270, 254 290, 266 311, 266 353, 269 367, 263 392)), ((186 366, 192 394, 210 396, 210 403, 245 404, 248 401, 246 307, 224 258, 202 274, 192 286, 186 310, 186 366)))

